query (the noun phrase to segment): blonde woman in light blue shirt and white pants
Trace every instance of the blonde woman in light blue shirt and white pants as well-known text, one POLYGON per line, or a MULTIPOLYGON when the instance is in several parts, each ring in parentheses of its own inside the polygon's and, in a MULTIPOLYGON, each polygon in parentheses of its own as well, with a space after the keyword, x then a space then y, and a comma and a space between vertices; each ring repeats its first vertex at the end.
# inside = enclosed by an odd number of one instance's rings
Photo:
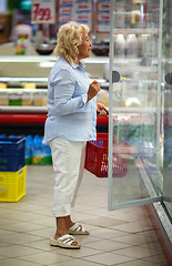
POLYGON ((102 104, 97 105, 100 91, 97 81, 90 82, 82 59, 90 57, 89 27, 75 22, 63 24, 58 32, 54 49, 59 57, 48 81, 48 119, 44 143, 51 147, 55 184, 53 215, 57 232, 50 245, 80 248, 71 234, 89 234, 71 219, 71 206, 84 166, 85 143, 97 139, 97 111, 107 115, 102 104))

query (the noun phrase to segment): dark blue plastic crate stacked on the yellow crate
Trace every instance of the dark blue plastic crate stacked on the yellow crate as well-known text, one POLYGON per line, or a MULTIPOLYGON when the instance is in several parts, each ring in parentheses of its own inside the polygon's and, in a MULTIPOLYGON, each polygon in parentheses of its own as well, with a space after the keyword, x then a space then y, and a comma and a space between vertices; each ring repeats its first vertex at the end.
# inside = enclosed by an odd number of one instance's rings
POLYGON ((0 137, 0 172, 17 172, 26 165, 24 137, 0 137))

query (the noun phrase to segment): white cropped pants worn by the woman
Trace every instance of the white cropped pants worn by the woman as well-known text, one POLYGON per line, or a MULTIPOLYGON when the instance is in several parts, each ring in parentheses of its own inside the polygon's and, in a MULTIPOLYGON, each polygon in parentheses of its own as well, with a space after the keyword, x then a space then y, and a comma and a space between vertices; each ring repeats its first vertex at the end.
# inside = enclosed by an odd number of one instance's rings
POLYGON ((50 141, 55 184, 53 191, 53 215, 71 215, 82 180, 87 142, 70 142, 61 137, 50 141))

